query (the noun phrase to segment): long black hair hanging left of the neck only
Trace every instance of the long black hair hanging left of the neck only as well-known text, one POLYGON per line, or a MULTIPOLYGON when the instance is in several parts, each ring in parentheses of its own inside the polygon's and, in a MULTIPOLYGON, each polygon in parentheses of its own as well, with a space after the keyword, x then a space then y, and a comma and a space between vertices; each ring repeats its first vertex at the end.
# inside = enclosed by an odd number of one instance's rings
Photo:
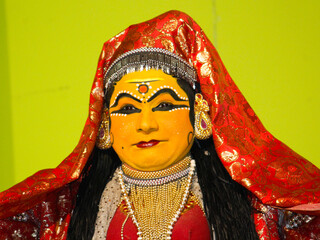
POLYGON ((101 150, 95 147, 93 149, 83 170, 67 239, 92 239, 102 192, 120 164, 112 148, 101 150))

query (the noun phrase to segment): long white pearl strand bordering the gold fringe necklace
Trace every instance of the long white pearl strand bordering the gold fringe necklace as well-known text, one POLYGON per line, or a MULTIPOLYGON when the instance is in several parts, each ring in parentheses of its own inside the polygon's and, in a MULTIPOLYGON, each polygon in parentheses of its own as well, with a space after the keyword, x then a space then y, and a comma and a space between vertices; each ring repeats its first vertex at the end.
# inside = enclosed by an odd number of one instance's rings
MULTIPOLYGON (((170 225, 168 226, 168 231, 167 231, 167 234, 168 234, 167 239, 168 240, 171 239, 173 225, 178 221, 178 218, 179 218, 180 214, 182 213, 184 206, 187 203, 189 192, 190 192, 190 187, 191 187, 191 183, 192 183, 192 178, 193 178, 194 171, 195 171, 195 167, 196 167, 196 162, 195 162, 195 160, 192 159, 191 163, 190 163, 190 171, 189 171, 189 174, 188 174, 187 187, 186 187, 186 190, 185 190, 185 192, 183 194, 183 198, 182 198, 182 202, 180 204, 180 208, 178 209, 178 211, 176 212, 176 214, 172 218, 172 220, 170 222, 170 225)), ((129 209, 129 213, 131 215, 132 221, 133 221, 133 223, 136 225, 136 227, 138 229, 138 232, 137 232, 138 240, 142 240, 141 227, 140 227, 140 225, 139 225, 139 223, 137 221, 137 218, 134 215, 134 211, 133 211, 131 203, 129 201, 129 196, 127 194, 127 191, 126 191, 126 188, 125 188, 125 184, 123 182, 123 172, 122 172, 121 169, 119 169, 118 175, 119 175, 119 182, 120 182, 120 187, 121 187, 121 192, 123 194, 123 198, 124 198, 124 200, 126 202, 126 205, 127 205, 128 209, 129 209)))

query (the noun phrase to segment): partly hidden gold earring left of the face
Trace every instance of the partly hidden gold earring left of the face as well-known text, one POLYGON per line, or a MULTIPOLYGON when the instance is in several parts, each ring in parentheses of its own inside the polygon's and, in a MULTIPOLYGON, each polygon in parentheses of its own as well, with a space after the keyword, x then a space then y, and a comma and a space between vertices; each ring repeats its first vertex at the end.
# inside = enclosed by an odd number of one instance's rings
POLYGON ((110 119, 109 111, 105 109, 102 113, 102 121, 100 124, 96 145, 100 149, 108 149, 112 146, 110 137, 110 119))

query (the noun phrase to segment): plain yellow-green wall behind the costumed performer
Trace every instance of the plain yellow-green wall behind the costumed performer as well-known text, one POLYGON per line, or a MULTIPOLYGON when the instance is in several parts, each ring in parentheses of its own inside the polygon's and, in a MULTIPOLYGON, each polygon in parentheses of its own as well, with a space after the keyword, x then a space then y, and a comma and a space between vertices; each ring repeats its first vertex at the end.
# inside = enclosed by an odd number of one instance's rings
POLYGON ((167 10, 191 15, 264 125, 318 167, 317 0, 0 1, 0 190, 76 145, 104 41, 167 10))

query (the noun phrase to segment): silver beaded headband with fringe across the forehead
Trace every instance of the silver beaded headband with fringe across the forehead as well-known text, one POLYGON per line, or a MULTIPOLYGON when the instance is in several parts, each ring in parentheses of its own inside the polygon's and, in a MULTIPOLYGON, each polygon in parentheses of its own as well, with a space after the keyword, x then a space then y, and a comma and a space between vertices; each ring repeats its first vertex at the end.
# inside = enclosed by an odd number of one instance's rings
POLYGON ((124 53, 105 70, 105 91, 128 73, 150 69, 183 79, 196 89, 197 73, 187 61, 162 48, 139 48, 124 53))

